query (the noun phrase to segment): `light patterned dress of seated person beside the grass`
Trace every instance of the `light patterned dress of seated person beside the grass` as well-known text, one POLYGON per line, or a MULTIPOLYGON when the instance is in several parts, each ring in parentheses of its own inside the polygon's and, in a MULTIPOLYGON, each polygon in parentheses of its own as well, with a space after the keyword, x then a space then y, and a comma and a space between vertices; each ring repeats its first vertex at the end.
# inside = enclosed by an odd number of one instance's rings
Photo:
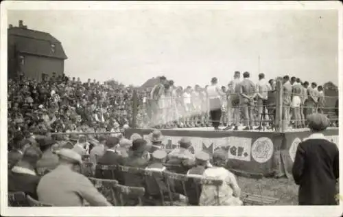
MULTIPOLYGON (((219 187, 219 201, 220 205, 225 206, 239 206, 242 201, 233 196, 235 189, 239 190, 236 178, 233 173, 225 168, 207 168, 204 171, 203 177, 206 179, 220 179, 223 180, 222 186, 219 187)), ((237 193, 236 193, 237 194, 237 193)), ((202 185, 202 193, 200 196, 200 205, 212 206, 217 205, 217 187, 213 185, 202 185)))

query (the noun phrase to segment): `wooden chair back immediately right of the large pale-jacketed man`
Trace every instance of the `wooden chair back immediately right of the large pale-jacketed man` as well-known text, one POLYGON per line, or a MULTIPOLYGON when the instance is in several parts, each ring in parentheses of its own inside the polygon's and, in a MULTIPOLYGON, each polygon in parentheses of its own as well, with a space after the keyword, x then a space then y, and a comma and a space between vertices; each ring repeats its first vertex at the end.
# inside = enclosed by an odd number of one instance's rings
POLYGON ((89 177, 88 178, 94 185, 94 187, 102 193, 112 205, 117 205, 117 199, 115 196, 115 186, 118 185, 117 180, 108 180, 108 179, 96 179, 89 177))

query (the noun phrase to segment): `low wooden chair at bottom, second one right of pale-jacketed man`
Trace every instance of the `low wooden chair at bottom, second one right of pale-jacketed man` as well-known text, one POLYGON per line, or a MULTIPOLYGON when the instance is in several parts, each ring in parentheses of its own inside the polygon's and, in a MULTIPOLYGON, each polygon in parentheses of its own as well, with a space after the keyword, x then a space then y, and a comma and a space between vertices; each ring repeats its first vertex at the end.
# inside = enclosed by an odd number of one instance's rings
POLYGON ((114 188, 119 206, 143 205, 144 187, 131 187, 118 184, 114 188), (136 202, 137 200, 138 203, 136 202))

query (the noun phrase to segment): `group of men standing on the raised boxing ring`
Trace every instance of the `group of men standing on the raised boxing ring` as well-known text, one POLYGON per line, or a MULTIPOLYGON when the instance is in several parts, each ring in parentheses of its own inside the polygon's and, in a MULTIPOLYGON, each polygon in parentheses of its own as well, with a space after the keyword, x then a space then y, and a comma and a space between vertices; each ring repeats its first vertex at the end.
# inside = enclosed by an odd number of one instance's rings
MULTIPOLYGON (((227 124, 224 130, 238 130, 241 117, 246 126, 244 130, 252 130, 253 125, 259 125, 257 130, 261 129, 261 125, 273 127, 273 118, 270 117, 275 117, 276 114, 276 79, 266 80, 264 73, 259 73, 258 76, 259 81, 255 84, 250 80, 249 72, 244 72, 241 80, 241 73, 235 71, 233 80, 227 87, 222 87, 223 115, 220 122, 224 123, 224 126, 227 124), (254 116, 256 107, 258 119, 254 116), (261 120, 262 123, 259 124, 261 120)), ((182 90, 182 87, 175 87, 174 82, 164 76, 159 79, 150 93, 152 125, 175 122, 178 127, 206 126, 204 122, 209 119, 210 113, 207 90, 209 86, 206 85, 202 89, 196 85, 194 90, 191 87, 182 90)), ((307 115, 314 112, 323 113, 325 96, 322 86, 317 87, 315 82, 309 85, 309 82, 302 82, 296 77, 284 76, 279 79, 282 79, 282 113, 285 128, 291 124, 294 128, 303 128, 307 115)))

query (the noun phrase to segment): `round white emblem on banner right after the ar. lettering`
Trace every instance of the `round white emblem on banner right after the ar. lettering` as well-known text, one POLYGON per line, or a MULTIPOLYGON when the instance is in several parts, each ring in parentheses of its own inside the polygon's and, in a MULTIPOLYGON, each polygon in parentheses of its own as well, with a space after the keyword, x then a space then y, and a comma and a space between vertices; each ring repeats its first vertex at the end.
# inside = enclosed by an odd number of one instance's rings
POLYGON ((268 137, 261 137, 256 139, 252 144, 251 155, 258 163, 265 163, 272 158, 274 152, 274 145, 268 137))

